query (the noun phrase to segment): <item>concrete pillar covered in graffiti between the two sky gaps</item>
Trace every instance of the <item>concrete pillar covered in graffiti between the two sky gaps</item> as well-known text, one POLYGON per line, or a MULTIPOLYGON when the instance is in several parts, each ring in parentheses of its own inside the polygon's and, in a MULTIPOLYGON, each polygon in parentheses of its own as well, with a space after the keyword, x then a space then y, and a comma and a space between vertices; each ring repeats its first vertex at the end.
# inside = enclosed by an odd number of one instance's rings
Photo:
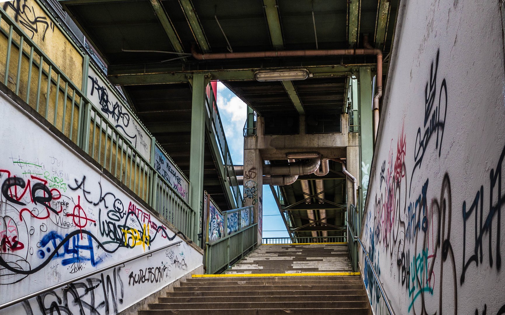
POLYGON ((260 150, 247 149, 248 141, 257 138, 248 136, 244 138, 244 186, 243 205, 254 206, 254 220, 258 222, 258 244, 261 244, 263 235, 263 160, 260 150))

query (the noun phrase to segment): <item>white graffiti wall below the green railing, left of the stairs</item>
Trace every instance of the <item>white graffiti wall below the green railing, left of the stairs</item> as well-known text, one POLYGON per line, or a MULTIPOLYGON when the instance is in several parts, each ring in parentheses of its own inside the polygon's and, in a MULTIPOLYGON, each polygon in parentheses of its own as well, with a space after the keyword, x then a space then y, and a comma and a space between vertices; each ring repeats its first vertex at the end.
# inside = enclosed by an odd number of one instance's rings
POLYGON ((202 265, 184 235, 4 94, 0 117, 0 304, 183 240, 2 313, 115 314, 202 265))

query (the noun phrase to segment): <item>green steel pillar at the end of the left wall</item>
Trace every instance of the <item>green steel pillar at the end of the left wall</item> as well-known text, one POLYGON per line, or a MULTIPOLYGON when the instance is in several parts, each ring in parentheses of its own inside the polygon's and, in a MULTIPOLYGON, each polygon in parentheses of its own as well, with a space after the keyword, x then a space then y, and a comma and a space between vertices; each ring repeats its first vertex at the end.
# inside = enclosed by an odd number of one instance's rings
POLYGON ((207 79, 204 74, 193 76, 193 98, 191 103, 191 143, 189 157, 189 205, 196 213, 191 235, 193 242, 200 246, 200 217, 204 197, 204 142, 205 142, 205 88, 207 79))

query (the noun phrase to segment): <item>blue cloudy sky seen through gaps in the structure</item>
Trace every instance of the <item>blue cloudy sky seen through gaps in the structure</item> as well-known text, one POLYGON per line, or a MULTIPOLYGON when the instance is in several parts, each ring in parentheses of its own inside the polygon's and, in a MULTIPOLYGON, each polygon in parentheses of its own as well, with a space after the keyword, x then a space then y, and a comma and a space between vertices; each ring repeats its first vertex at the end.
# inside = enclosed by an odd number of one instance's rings
MULTIPOLYGON (((217 103, 234 164, 244 163, 245 103, 218 82, 217 103)), ((241 188, 241 187, 240 187, 241 188)), ((263 237, 289 237, 269 185, 263 186, 263 237)))

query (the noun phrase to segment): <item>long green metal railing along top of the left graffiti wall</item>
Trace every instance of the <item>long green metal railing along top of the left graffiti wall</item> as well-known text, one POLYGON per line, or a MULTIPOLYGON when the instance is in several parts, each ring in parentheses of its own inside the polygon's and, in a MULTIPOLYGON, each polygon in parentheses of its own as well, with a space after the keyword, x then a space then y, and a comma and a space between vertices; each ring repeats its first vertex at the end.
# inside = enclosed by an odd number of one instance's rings
MULTIPOLYGON (((150 161, 91 105, 85 93, 2 8, 0 21, 0 42, 7 42, 0 45, 0 56, 6 61, 5 65, 0 63, 1 82, 177 229, 197 239, 197 231, 192 228, 193 209, 158 176, 150 161)), ((84 87, 89 57, 82 56, 84 87)))

